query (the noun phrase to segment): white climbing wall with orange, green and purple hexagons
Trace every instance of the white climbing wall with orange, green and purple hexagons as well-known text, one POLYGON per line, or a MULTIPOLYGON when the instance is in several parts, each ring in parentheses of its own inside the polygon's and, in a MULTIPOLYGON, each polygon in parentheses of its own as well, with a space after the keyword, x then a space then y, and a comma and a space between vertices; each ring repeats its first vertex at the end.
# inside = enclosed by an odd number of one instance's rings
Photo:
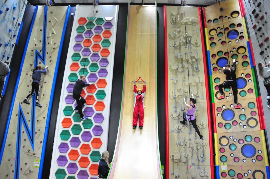
POLYGON ((114 50, 119 6, 76 7, 56 124, 50 178, 97 178, 99 159, 107 150, 114 50), (73 111, 75 81, 92 83, 81 121, 73 111))

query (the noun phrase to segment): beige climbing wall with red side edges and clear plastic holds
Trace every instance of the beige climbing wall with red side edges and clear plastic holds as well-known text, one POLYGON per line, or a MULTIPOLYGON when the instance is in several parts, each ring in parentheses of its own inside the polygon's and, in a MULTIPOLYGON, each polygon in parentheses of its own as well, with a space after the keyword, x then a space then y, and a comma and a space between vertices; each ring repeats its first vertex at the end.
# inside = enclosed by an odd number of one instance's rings
POLYGON ((164 6, 166 105, 166 178, 213 178, 212 134, 206 58, 200 7, 164 6), (167 40, 166 40, 167 39, 167 40), (193 125, 182 125, 191 94, 197 100, 195 117, 203 135, 193 125))

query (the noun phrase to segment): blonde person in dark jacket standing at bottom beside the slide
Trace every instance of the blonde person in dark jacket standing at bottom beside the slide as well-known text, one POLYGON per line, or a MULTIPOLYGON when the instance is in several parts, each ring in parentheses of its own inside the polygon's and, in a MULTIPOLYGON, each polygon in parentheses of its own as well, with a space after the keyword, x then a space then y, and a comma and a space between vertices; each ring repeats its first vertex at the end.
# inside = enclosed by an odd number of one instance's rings
POLYGON ((99 161, 99 167, 97 168, 97 174, 99 178, 106 179, 110 170, 111 163, 109 164, 110 154, 108 151, 102 152, 101 159, 99 161))

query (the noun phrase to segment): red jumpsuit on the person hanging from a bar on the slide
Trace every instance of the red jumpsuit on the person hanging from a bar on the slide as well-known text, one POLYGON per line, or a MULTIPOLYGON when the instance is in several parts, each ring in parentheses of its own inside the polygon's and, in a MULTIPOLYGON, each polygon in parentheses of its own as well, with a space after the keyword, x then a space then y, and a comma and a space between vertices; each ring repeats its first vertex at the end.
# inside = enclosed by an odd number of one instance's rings
POLYGON ((138 114, 139 114, 139 126, 143 126, 143 115, 144 115, 144 106, 143 106, 143 101, 144 101, 144 95, 146 92, 146 86, 143 85, 143 91, 141 95, 137 93, 137 86, 134 85, 134 111, 133 111, 133 126, 137 126, 138 122, 138 114))

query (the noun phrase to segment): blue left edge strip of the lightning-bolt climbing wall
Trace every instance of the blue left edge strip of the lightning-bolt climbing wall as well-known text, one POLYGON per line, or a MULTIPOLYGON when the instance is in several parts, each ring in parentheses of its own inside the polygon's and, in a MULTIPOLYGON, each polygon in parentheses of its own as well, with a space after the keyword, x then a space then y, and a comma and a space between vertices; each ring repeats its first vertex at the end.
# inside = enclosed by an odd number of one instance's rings
POLYGON ((14 88, 14 93, 13 93, 13 97, 12 97, 11 107, 10 107, 9 114, 8 114, 8 121, 6 123, 6 129, 5 129, 4 139, 3 139, 3 143, 2 143, 1 151, 0 151, 0 166, 2 164, 1 161, 2 161, 2 158, 3 158, 3 154, 4 154, 4 149, 5 149, 5 144, 6 144, 6 137, 8 136, 8 129, 9 129, 9 124, 10 124, 11 115, 12 115, 12 111, 13 111, 13 106, 14 106, 16 94, 17 94, 17 91, 18 91, 20 77, 21 77, 21 74, 22 74, 22 67, 23 67, 23 63, 24 63, 24 60, 25 60, 26 51, 27 51, 29 40, 30 40, 30 36, 31 36, 32 30, 33 30, 33 26, 34 26, 34 22, 35 22, 37 11, 38 11, 38 6, 35 7, 35 12, 33 14, 31 26, 30 26, 30 29, 29 29, 28 37, 27 37, 27 41, 26 41, 25 48, 24 48, 24 51, 23 51, 22 62, 21 62, 21 66, 20 66, 20 69, 19 69, 18 78, 17 78, 16 85, 15 85, 15 88, 14 88))

